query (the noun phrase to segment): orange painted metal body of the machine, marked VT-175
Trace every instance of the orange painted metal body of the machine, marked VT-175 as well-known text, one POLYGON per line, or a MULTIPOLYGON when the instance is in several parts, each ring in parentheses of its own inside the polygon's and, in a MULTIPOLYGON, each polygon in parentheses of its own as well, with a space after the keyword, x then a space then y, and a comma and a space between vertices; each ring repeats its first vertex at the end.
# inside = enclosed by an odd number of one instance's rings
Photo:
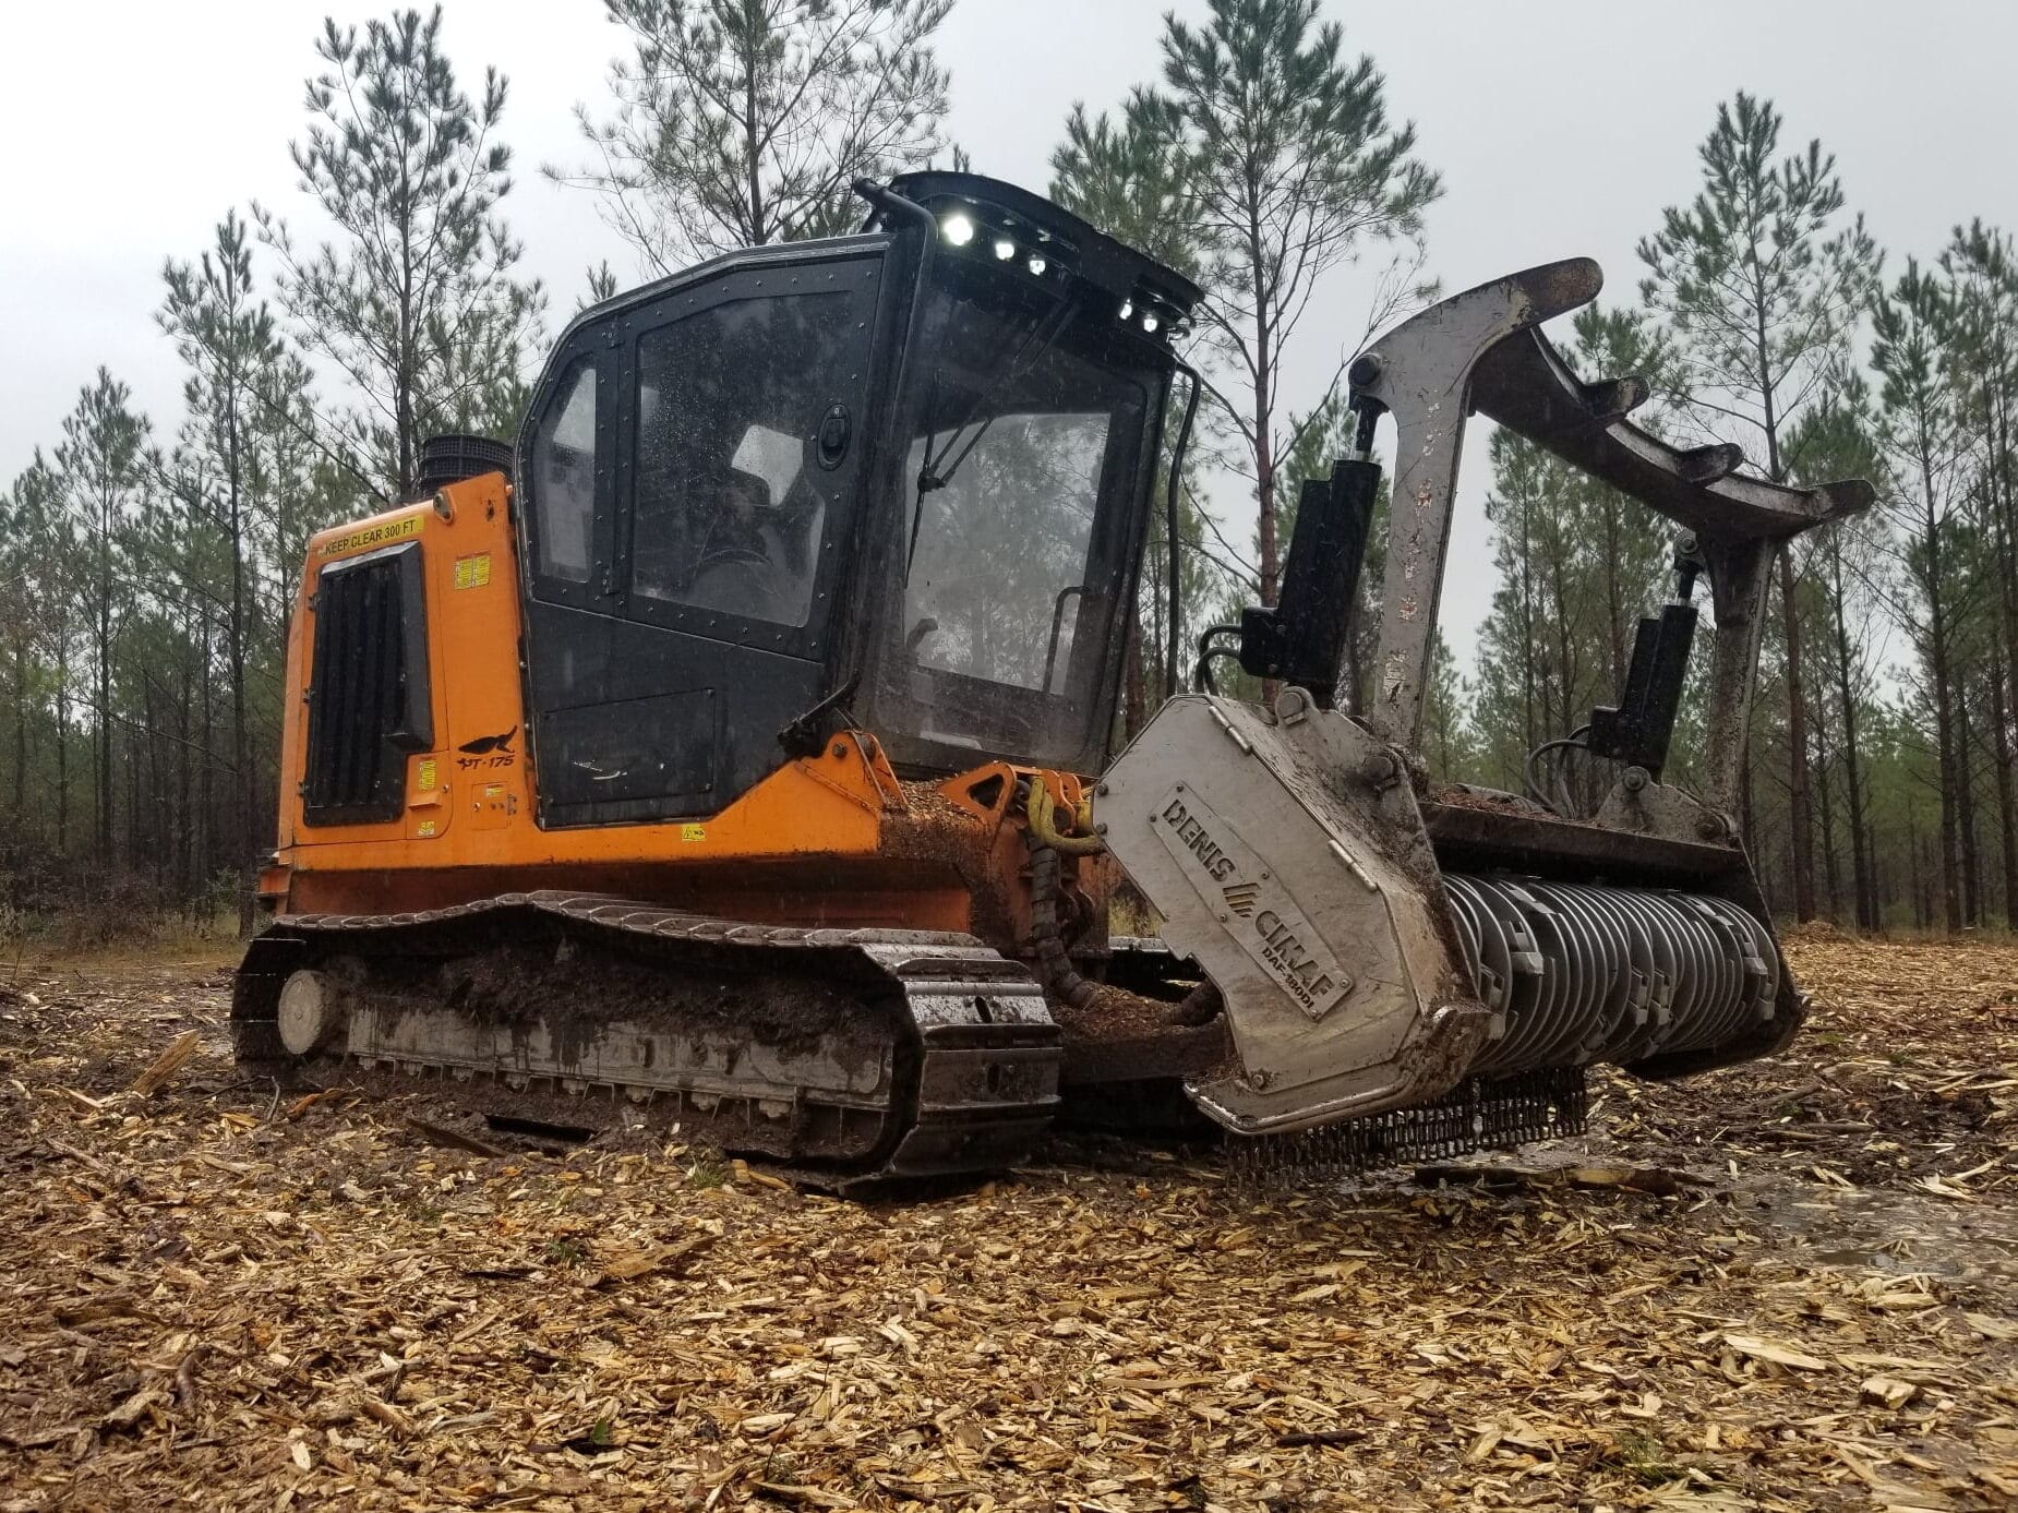
MULTIPOLYGON (((842 730, 714 815, 541 827, 511 504, 504 476, 484 474, 311 541, 287 646, 278 851, 260 882, 270 912, 398 914, 565 888, 763 924, 969 930, 1011 952, 1027 942, 1027 847, 1011 801, 1035 781, 1072 815, 1086 783, 1070 773, 989 763, 902 781, 876 736, 842 730), (301 787, 319 573, 408 541, 422 551, 432 748, 408 754, 396 819, 311 825, 301 787)), ((1104 920, 1094 896, 1104 900, 1108 867, 1074 861, 1082 922, 1104 920)))

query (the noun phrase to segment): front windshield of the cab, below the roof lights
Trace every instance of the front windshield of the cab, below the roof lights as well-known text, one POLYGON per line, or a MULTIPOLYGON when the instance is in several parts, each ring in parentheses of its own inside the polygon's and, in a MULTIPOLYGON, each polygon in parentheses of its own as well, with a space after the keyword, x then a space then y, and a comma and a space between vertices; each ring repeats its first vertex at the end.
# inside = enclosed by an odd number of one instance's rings
POLYGON ((936 765, 973 750, 1088 769, 1160 379, 1108 359, 1066 290, 961 266, 942 278, 912 369, 926 399, 904 466, 892 692, 936 765))

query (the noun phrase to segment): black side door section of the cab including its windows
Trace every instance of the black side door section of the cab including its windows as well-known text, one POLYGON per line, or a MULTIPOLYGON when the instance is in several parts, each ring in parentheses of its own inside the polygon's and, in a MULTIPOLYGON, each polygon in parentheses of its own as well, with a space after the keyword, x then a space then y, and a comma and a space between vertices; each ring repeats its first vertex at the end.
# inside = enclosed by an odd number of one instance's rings
POLYGON ((563 339, 521 446, 541 823, 718 813, 829 692, 884 246, 737 254, 563 339))

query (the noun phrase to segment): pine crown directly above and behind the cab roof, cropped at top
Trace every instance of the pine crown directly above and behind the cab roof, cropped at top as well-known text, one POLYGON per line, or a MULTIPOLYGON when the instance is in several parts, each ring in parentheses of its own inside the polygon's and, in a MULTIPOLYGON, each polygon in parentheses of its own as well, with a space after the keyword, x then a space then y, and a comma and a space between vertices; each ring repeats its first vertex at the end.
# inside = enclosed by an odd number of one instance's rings
POLYGON ((952 0, 603 0, 632 56, 615 115, 575 115, 599 161, 549 167, 603 196, 656 274, 674 256, 833 236, 852 184, 938 151, 946 71, 932 34, 952 0))

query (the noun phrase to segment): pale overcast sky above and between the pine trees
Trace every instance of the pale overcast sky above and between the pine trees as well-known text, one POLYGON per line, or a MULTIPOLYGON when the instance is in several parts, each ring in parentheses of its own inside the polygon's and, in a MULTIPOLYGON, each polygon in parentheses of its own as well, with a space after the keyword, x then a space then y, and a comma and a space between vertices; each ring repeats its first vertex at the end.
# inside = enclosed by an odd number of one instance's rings
MULTIPOLYGON (((1168 0, 959 0, 938 52, 950 133, 975 167, 1033 190, 1074 101, 1116 103, 1156 67, 1168 0)), ((1179 10, 1201 12, 1185 0, 1179 10)), ((163 256, 200 252, 250 200, 301 230, 287 155, 327 0, 105 0, 8 6, 0 48, 0 480, 50 446, 99 363, 157 432, 180 371, 153 325, 163 256)), ((1590 254, 1608 297, 1639 276, 1635 242, 1695 192, 1695 147, 1737 89, 1778 101, 1788 145, 1820 137, 1891 264, 1931 256, 1949 226, 2018 226, 2018 4, 2008 0, 1328 0, 1372 52, 1388 109, 1415 119, 1445 198, 1429 216, 1445 288, 1590 254)), ((339 10, 361 22, 373 8, 339 10)), ((599 0, 448 0, 444 36, 472 89, 511 79, 504 210, 527 266, 573 311, 583 268, 634 262, 595 200, 537 167, 579 155, 571 109, 595 105, 620 32, 599 0)), ((1334 276, 1298 335, 1290 403, 1314 397, 1364 323, 1364 278, 1334 276)), ((1469 656, 1491 591, 1479 512, 1483 436, 1467 448, 1445 625, 1469 656)), ((1239 500, 1225 500, 1231 514, 1239 500)), ((1237 539, 1247 539, 1243 525, 1237 539)))

